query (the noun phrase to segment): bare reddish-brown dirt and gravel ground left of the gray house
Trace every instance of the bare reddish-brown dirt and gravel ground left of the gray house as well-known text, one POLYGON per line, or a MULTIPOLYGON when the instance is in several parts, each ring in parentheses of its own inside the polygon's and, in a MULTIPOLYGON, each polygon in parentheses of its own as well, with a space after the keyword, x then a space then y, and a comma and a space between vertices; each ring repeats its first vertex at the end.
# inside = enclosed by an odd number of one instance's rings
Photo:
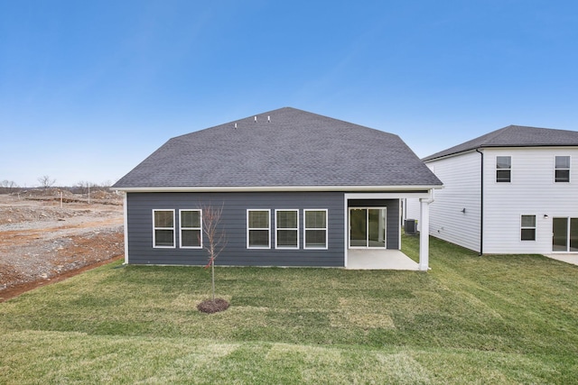
POLYGON ((121 202, 0 195, 0 301, 121 258, 121 202))

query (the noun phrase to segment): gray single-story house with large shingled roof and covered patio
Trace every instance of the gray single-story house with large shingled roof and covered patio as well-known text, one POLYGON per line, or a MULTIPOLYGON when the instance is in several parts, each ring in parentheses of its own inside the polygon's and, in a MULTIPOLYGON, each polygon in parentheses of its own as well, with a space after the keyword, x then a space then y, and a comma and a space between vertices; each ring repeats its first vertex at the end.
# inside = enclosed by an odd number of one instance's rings
POLYGON ((205 265, 210 206, 219 265, 348 267, 353 249, 400 249, 402 199, 419 199, 427 226, 442 182, 395 134, 285 107, 172 138, 113 188, 126 263, 205 265))

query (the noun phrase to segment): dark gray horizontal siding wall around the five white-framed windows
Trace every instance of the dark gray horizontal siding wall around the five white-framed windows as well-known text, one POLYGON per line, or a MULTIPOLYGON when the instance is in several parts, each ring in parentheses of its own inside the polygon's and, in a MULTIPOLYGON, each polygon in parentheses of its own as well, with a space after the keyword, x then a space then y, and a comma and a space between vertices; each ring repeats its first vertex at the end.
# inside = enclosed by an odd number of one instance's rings
MULTIPOLYGON (((202 249, 153 248, 153 209, 199 208, 224 204, 220 226, 227 247, 218 265, 343 266, 343 193, 127 193, 129 263, 204 265, 202 249), (247 249, 247 208, 271 210, 271 249, 247 249), (275 208, 299 209, 298 250, 275 250, 275 208), (303 209, 328 209, 328 250, 303 249, 303 209)), ((178 214, 176 244, 179 244, 178 214)))

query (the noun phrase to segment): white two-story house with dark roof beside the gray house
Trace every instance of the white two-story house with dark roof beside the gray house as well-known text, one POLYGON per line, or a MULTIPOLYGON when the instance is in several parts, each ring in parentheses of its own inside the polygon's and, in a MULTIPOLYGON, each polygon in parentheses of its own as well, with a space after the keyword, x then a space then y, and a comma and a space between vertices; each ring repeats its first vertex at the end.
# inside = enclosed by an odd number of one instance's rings
POLYGON ((577 156, 578 132, 508 126, 424 158, 444 185, 430 234, 483 254, 576 252, 577 156))

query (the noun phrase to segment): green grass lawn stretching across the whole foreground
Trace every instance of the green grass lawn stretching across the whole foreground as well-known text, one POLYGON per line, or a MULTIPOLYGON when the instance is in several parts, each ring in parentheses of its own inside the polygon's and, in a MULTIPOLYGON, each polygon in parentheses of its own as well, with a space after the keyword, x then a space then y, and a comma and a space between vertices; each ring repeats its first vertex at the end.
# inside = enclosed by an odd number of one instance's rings
MULTIPOLYGON (((417 257, 418 240, 404 252, 417 257)), ((0 304, 0 383, 575 383, 578 267, 432 239, 429 273, 119 262, 0 304)))

